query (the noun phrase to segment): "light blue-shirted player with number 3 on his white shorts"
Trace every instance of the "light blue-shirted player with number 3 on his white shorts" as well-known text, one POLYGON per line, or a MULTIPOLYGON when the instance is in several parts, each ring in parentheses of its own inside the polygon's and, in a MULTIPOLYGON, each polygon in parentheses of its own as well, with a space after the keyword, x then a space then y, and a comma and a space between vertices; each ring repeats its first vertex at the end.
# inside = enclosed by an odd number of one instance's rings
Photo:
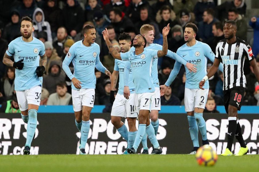
POLYGON ((96 77, 94 69, 98 69, 111 77, 111 73, 100 62, 100 46, 94 41, 96 30, 87 25, 83 28, 84 39, 73 44, 63 61, 62 68, 71 79, 72 101, 75 112, 75 124, 81 132, 79 141, 80 155, 85 155, 85 144, 90 129, 90 113, 94 107, 96 77), (68 65, 73 60, 74 74, 68 65))

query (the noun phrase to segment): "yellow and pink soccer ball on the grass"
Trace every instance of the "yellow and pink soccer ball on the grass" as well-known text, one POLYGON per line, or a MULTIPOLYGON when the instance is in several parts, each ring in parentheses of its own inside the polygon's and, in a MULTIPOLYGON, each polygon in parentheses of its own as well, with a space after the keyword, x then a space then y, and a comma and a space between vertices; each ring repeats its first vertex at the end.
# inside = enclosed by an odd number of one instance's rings
POLYGON ((197 163, 202 166, 213 166, 218 160, 218 155, 209 145, 201 146, 195 157, 197 163))

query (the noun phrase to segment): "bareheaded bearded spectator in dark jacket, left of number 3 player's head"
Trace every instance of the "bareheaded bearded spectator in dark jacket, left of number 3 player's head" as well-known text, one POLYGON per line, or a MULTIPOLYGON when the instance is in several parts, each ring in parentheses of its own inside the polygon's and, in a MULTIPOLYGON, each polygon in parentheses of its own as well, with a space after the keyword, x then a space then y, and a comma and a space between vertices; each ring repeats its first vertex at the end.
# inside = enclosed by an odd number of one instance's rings
POLYGON ((67 39, 72 39, 72 37, 67 35, 66 28, 58 28, 57 37, 54 39, 52 45, 57 50, 58 56, 60 57, 63 56, 64 43, 67 39))

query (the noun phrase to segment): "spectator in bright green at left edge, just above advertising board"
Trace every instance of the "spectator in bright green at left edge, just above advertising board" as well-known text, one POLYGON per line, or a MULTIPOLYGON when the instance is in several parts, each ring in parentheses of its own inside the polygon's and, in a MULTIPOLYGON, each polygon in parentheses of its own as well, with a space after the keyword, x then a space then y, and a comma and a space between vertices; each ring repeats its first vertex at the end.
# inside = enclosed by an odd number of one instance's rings
POLYGON ((0 112, 3 113, 21 113, 19 109, 19 104, 17 101, 16 94, 13 94, 12 99, 9 99, 2 103, 0 107, 0 112))

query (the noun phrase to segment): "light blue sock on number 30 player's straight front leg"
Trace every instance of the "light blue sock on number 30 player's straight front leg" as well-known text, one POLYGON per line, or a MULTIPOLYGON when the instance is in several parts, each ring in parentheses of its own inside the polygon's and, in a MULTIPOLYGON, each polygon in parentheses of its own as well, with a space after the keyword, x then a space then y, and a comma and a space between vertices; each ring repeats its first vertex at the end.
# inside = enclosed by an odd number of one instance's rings
POLYGON ((28 124, 27 124, 27 139, 25 146, 29 146, 31 148, 31 142, 33 140, 33 136, 35 134, 35 130, 37 128, 37 110, 31 109, 28 111, 28 124))

